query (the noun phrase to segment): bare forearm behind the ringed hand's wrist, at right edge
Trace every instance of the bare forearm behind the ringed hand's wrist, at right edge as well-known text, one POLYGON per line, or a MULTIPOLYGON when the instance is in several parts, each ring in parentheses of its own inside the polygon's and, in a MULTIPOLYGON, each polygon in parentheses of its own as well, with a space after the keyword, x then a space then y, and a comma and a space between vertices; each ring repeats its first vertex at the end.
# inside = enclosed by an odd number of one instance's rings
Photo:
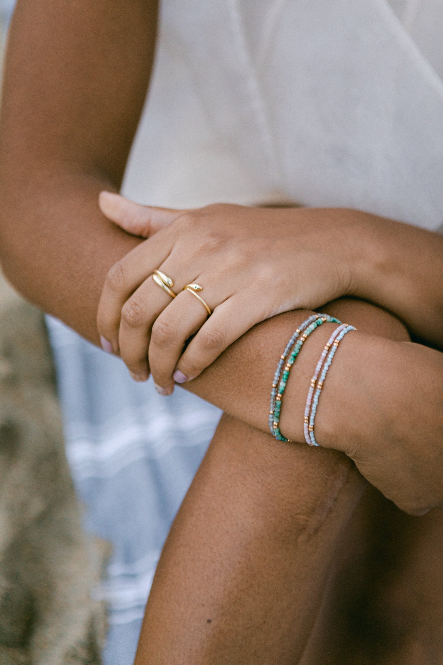
POLYGON ((355 211, 350 293, 399 317, 443 348, 443 236, 355 211))

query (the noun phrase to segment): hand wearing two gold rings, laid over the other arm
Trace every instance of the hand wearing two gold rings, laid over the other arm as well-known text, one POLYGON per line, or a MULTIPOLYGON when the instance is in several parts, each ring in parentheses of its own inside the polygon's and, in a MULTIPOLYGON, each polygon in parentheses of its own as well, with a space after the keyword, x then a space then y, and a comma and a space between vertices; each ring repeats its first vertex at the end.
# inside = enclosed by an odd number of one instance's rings
POLYGON ((108 273, 98 331, 133 378, 145 380, 150 367, 164 394, 172 392, 174 380, 198 376, 256 323, 349 293, 350 231, 364 215, 224 204, 171 210, 108 192, 100 195, 100 208, 147 240, 108 273), (173 279, 175 299, 151 279, 155 269, 173 279), (197 298, 182 291, 191 283, 203 287, 199 295, 211 317, 197 298))

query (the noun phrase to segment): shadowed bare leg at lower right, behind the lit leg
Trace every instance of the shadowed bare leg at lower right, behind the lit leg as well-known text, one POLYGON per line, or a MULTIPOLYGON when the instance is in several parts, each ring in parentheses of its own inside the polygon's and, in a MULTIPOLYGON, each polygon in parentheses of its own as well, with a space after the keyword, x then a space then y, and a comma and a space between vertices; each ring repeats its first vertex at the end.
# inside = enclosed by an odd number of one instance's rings
POLYGON ((443 512, 368 487, 343 542, 301 665, 441 665, 443 512))

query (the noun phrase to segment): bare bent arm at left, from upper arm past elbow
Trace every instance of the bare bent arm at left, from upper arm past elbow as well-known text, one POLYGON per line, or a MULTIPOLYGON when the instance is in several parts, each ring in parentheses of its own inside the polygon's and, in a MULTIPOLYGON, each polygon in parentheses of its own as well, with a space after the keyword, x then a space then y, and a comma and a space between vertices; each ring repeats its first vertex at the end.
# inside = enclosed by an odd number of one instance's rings
POLYGON ((98 209, 145 98, 155 0, 19 0, 0 128, 0 252, 11 282, 96 342, 106 273, 139 242, 98 209))

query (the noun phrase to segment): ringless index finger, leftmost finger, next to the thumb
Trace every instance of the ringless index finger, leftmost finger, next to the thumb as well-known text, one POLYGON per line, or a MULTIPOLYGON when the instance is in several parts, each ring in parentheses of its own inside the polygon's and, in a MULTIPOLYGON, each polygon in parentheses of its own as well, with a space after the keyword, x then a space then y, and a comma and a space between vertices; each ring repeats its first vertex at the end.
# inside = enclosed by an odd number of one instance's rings
MULTIPOLYGON (((167 229, 165 229, 167 231, 167 229)), ((136 289, 163 264, 174 244, 173 237, 157 233, 134 247, 112 266, 102 289, 98 304, 97 328, 100 336, 118 353, 120 315, 122 307, 136 289)), ((159 288, 159 287, 158 287, 159 288)))

